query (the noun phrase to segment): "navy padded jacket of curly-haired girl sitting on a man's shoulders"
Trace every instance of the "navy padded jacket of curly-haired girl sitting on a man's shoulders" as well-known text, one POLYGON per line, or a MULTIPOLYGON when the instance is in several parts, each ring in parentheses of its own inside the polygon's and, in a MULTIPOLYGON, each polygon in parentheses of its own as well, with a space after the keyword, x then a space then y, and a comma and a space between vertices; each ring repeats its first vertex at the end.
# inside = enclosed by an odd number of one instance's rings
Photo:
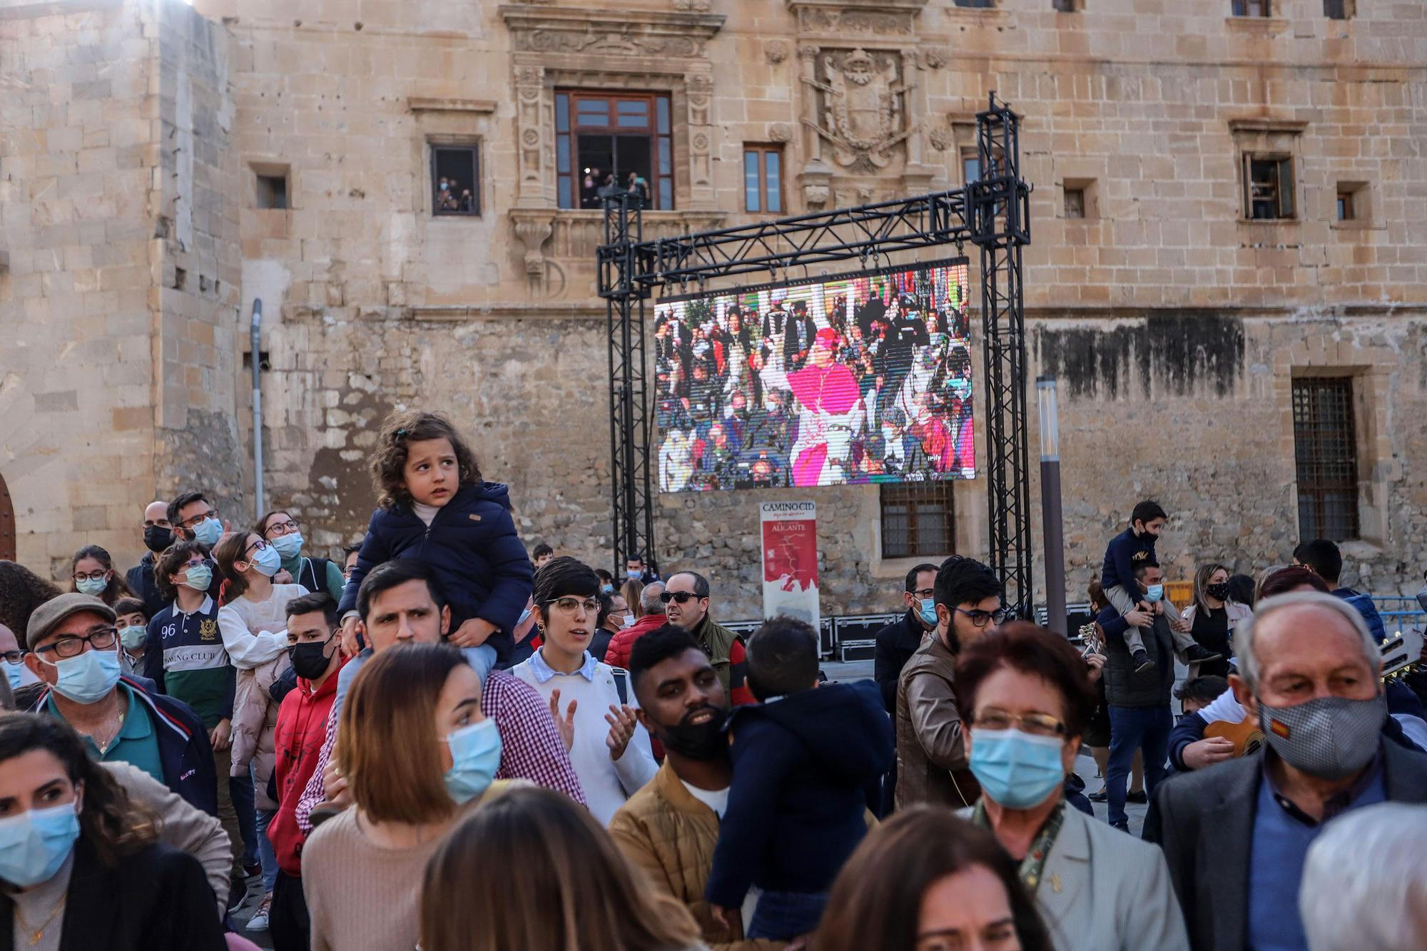
POLYGON ((504 660, 511 653, 511 631, 531 597, 535 567, 515 533, 505 485, 462 485, 437 510, 430 527, 404 503, 372 513, 342 591, 341 614, 357 608, 357 591, 367 573, 392 558, 420 558, 431 565, 451 604, 452 631, 482 618, 498 628, 485 641, 497 657, 504 660))

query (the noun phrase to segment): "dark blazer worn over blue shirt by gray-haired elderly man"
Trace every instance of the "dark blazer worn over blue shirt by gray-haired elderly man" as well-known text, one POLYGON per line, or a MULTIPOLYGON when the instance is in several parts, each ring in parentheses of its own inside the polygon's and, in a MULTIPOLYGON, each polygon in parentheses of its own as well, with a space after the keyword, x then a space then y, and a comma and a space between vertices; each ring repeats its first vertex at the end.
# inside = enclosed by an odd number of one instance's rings
MULTIPOLYGON (((1194 951, 1241 951, 1249 940, 1249 850, 1263 754, 1160 783, 1144 817, 1184 908, 1194 951)), ((1393 802, 1427 802, 1427 755, 1383 743, 1383 783, 1393 802)))

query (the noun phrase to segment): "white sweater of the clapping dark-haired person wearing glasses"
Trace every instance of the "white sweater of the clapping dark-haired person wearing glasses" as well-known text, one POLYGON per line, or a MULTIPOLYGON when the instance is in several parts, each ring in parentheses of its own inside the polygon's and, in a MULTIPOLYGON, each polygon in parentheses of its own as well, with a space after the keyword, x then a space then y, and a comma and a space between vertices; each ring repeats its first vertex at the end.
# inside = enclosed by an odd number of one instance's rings
MULTIPOLYGON (((649 748, 649 734, 644 727, 636 725, 629 745, 618 760, 609 758, 609 747, 605 737, 609 735, 609 724, 605 714, 609 705, 619 705, 619 690, 615 687, 615 677, 608 664, 599 664, 589 653, 585 653, 585 665, 574 674, 561 674, 549 668, 537 651, 511 668, 511 673, 539 691, 539 695, 549 703, 551 694, 559 691, 559 710, 564 714, 569 708, 571 700, 578 700, 575 707, 575 741, 569 750, 569 761, 579 777, 579 785, 585 790, 585 800, 589 804, 589 814, 599 820, 601 825, 608 825, 609 820, 634 795, 639 787, 654 778, 659 765, 654 761, 654 751, 649 748)), ((626 688, 629 707, 638 707, 634 690, 626 688)))

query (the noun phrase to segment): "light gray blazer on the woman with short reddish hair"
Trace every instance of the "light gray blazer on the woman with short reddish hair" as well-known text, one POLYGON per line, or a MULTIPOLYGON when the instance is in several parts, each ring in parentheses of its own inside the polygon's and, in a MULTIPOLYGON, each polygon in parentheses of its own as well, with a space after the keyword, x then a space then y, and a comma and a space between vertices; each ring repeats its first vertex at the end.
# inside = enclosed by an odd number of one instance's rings
POLYGON ((1056 951, 1189 951, 1164 855, 1069 804, 1035 898, 1056 951))

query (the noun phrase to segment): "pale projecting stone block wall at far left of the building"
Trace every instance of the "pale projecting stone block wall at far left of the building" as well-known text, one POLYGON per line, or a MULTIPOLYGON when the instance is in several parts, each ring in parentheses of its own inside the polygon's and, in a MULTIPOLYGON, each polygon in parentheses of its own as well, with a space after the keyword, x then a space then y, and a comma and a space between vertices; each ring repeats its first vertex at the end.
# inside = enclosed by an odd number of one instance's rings
POLYGON ((0 7, 0 473, 57 575, 136 558, 156 494, 241 493, 221 33, 167 0, 0 7))

